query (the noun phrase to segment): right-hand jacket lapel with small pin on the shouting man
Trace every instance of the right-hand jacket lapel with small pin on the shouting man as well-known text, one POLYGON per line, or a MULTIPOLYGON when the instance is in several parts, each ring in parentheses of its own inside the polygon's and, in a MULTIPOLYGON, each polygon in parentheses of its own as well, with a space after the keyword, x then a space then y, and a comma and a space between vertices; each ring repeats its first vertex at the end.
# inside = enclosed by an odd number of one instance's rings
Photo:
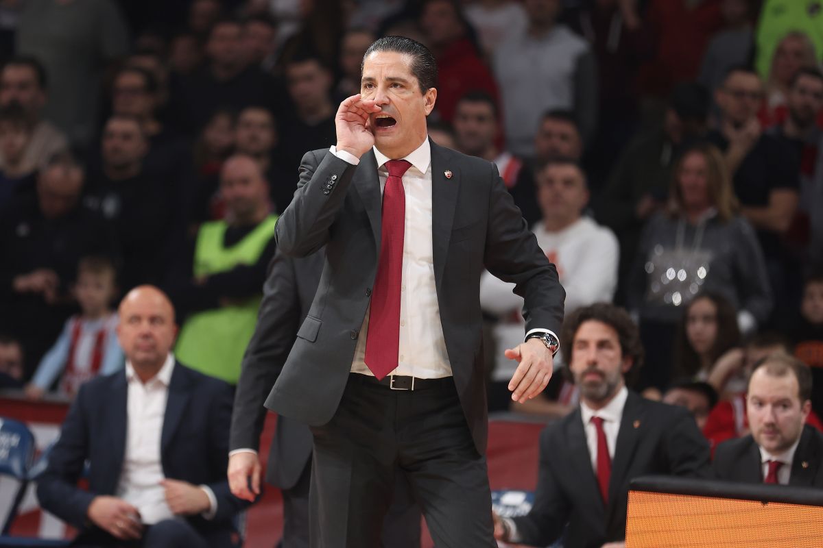
POLYGON ((435 284, 437 288, 443 279, 443 269, 449 252, 452 235, 454 209, 458 203, 460 172, 458 166, 449 164, 449 150, 431 145, 431 242, 434 251, 435 284), (451 177, 446 178, 449 171, 451 177))

